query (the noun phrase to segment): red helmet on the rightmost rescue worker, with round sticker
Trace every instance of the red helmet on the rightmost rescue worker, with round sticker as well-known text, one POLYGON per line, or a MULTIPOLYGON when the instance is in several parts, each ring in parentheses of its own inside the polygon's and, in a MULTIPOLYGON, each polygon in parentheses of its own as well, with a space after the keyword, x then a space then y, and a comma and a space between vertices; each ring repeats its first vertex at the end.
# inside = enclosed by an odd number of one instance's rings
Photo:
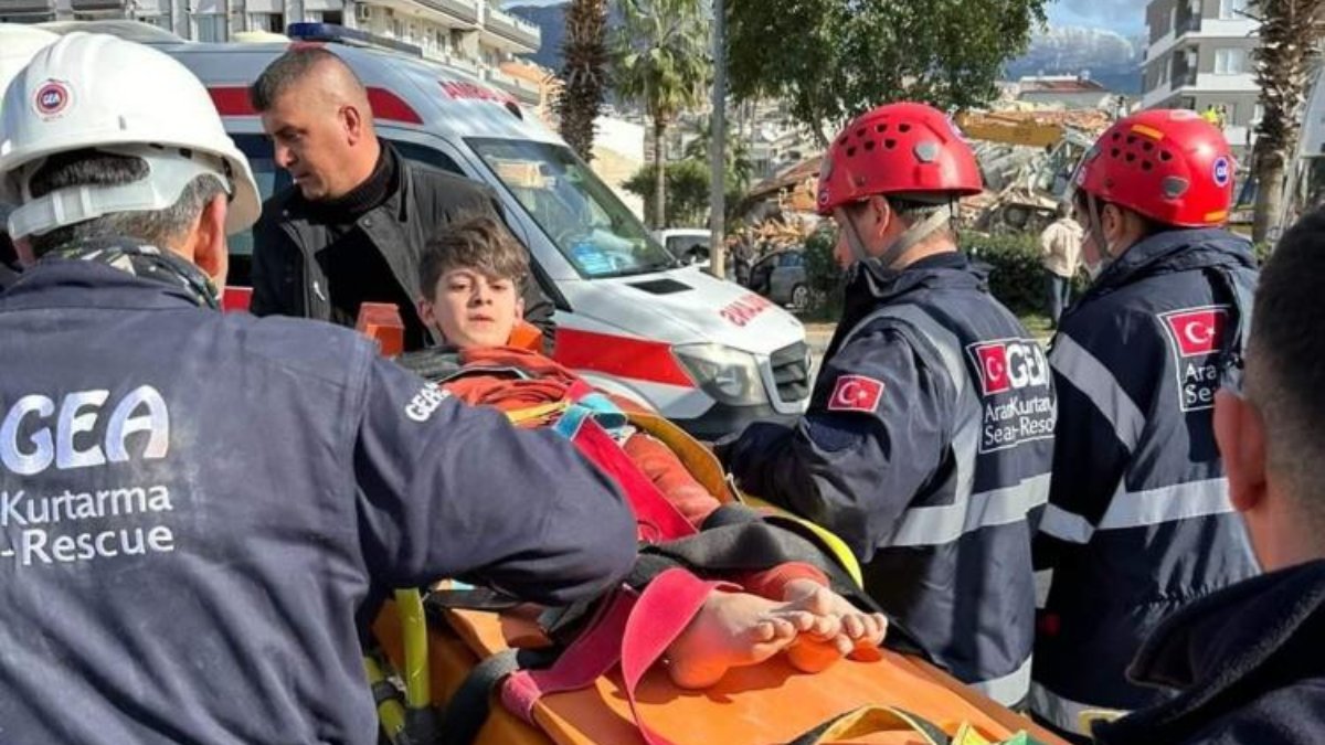
POLYGON ((1228 220, 1234 156, 1218 127, 1186 109, 1153 109, 1114 122, 1076 175, 1077 188, 1179 228, 1228 220))

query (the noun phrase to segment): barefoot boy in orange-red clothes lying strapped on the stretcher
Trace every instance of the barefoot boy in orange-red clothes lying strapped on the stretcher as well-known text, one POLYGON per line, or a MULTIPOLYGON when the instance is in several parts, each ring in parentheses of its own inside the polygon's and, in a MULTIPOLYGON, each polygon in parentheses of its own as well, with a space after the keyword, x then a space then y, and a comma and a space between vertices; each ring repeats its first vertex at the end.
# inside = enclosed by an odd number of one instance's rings
MULTIPOLYGON (((507 346, 522 315, 521 285, 529 277, 525 248, 498 223, 473 217, 433 239, 420 261, 420 315, 445 341, 443 347, 401 362, 468 403, 507 412, 537 412, 587 386, 574 372, 537 353, 507 346)), ((629 408, 595 396, 598 406, 629 408)), ((637 408, 637 407, 636 407, 637 408)), ((555 416, 555 415, 553 415, 555 416)), ((534 416, 521 426, 547 426, 534 416)), ((628 424, 611 435, 629 463, 685 520, 698 529, 719 501, 696 481, 657 439, 628 424)), ((680 687, 702 688, 727 669, 786 652, 788 661, 818 672, 837 659, 868 655, 884 638, 882 615, 859 611, 828 587, 827 577, 802 562, 723 577, 745 591, 713 591, 694 620, 668 648, 668 672, 680 687)))

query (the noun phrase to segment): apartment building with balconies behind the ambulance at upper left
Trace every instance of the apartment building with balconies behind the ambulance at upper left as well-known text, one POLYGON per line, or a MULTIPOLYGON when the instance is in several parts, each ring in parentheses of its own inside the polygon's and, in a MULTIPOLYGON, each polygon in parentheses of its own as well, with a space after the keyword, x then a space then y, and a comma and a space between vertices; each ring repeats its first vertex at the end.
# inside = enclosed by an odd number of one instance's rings
POLYGON ((549 95, 547 76, 518 57, 538 50, 542 32, 497 0, 0 0, 0 21, 97 19, 135 19, 196 41, 282 33, 293 23, 344 25, 466 69, 521 103, 545 105, 549 95))

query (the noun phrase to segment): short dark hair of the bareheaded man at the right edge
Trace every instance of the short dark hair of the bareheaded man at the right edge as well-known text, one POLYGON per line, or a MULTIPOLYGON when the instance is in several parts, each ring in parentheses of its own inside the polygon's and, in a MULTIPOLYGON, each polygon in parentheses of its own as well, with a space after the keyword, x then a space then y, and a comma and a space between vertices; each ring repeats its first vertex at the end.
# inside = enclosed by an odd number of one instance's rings
MULTIPOLYGON (((1247 395, 1260 407, 1269 465, 1295 498, 1325 476, 1325 211, 1298 220, 1261 269, 1247 349, 1247 395)), ((1325 501, 1304 504, 1325 525, 1325 501)))

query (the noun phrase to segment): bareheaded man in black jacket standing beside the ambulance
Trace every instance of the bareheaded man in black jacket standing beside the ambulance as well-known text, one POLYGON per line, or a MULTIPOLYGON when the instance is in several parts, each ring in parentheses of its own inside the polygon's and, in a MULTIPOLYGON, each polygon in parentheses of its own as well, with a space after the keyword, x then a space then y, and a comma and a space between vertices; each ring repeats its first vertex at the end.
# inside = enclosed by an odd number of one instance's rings
MULTIPOLYGON (((326 49, 286 52, 250 98, 277 164, 294 179, 268 200, 253 229, 253 314, 352 327, 363 302, 388 302, 400 309, 405 350, 427 346, 412 293, 423 245, 457 215, 497 215, 496 195, 379 139, 367 89, 326 49)), ((529 282, 525 319, 543 331, 546 354, 554 310, 529 282)))

